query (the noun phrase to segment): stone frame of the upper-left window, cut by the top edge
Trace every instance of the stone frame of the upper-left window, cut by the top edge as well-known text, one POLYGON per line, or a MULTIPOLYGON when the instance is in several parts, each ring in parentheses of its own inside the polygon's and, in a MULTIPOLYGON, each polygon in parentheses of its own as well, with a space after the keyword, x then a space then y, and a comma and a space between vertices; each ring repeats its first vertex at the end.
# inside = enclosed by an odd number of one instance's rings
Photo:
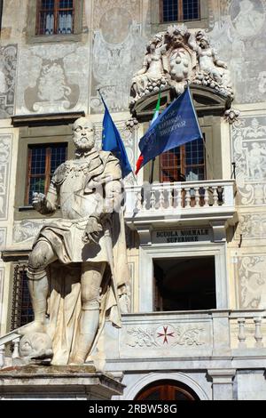
POLYGON ((74 8, 74 33, 66 35, 36 35, 36 22, 38 12, 38 0, 28 0, 27 4, 27 43, 53 43, 66 41, 81 41, 82 40, 82 18, 84 0, 75 2, 74 8))

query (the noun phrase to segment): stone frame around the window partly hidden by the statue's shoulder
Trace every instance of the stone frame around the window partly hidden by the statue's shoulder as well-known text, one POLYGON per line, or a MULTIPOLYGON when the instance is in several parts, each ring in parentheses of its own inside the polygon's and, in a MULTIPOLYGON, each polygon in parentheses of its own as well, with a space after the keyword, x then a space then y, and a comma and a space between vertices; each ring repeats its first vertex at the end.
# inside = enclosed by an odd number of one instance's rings
MULTIPOLYGON (((16 221, 31 219, 33 206, 25 205, 25 193, 27 189, 27 150, 30 145, 47 145, 55 143, 67 143, 66 159, 74 158, 74 142, 72 141, 72 124, 51 126, 23 126, 20 127, 20 140, 17 163, 17 179, 15 192, 16 221)), ((59 216, 59 211, 54 215, 59 216)), ((43 218, 41 213, 35 211, 35 218, 43 218)))

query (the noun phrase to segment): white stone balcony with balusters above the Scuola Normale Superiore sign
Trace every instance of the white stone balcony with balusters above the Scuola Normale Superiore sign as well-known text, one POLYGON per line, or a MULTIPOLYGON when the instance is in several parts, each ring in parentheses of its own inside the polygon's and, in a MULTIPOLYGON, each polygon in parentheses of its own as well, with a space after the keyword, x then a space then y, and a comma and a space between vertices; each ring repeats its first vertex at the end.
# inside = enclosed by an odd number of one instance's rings
POLYGON ((166 223, 234 224, 235 181, 185 181, 127 188, 125 221, 131 229, 166 223))

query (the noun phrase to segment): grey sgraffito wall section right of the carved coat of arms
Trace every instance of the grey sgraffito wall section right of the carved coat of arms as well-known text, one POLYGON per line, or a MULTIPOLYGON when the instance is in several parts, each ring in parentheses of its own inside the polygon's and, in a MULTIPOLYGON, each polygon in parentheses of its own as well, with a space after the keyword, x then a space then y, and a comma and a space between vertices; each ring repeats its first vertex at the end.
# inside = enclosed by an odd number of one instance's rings
POLYGON ((231 70, 235 100, 266 100, 264 0, 210 0, 209 36, 231 70))

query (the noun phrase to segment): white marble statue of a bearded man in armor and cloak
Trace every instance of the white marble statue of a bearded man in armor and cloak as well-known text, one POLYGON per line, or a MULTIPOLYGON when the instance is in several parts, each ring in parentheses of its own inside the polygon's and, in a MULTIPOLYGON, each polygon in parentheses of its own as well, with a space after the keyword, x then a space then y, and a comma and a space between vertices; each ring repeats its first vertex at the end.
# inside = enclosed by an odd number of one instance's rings
MULTIPOLYGON (((68 350, 68 354, 62 364, 84 363, 98 333, 100 315, 105 315, 107 310, 110 314, 114 307, 118 307, 118 293, 125 292, 128 275, 120 211, 122 182, 119 160, 110 152, 94 148, 94 126, 89 118, 77 119, 73 130, 76 158, 59 165, 46 197, 41 193, 35 193, 33 197, 33 205, 39 213, 54 213, 60 205, 62 218, 51 220, 41 229, 29 255, 27 277, 35 320, 22 330, 23 334, 49 334, 47 322, 53 323, 53 334, 50 331, 53 350, 56 345, 62 346, 58 334, 62 333, 63 340, 66 340, 64 352, 68 350), (69 311, 69 301, 65 308, 56 301, 56 309, 50 306, 49 312, 52 317, 56 311, 57 318, 48 321, 47 300, 51 291, 47 273, 48 266, 54 261, 81 266, 81 309, 74 314, 74 307, 69 311), (119 264, 119 269, 116 264, 119 264), (62 317, 60 310, 65 315, 61 321, 65 328, 55 331, 55 324, 62 317), (69 336, 71 322, 75 329, 69 336)), ((77 298, 72 299, 72 304, 78 305, 77 298)), ((111 318, 114 325, 119 326, 119 318, 119 311, 116 311, 111 318)))

